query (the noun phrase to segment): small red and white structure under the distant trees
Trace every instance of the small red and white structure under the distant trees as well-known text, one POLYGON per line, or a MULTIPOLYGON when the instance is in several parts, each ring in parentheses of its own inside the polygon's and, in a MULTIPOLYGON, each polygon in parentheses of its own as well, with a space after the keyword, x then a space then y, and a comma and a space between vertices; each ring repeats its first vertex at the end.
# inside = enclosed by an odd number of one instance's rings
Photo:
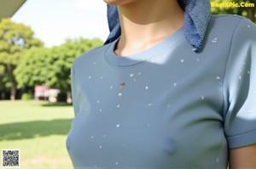
POLYGON ((48 99, 49 102, 55 103, 57 101, 58 94, 61 93, 60 89, 49 88, 45 85, 36 86, 34 88, 34 99, 40 98, 48 99))

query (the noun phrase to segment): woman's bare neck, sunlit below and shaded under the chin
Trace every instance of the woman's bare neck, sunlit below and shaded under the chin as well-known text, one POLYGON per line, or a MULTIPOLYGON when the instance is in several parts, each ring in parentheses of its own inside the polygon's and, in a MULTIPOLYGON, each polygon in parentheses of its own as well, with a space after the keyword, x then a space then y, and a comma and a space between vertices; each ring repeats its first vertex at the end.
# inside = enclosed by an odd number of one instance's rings
POLYGON ((137 0, 119 5, 120 56, 139 53, 163 41, 183 26, 183 9, 175 0, 137 0))

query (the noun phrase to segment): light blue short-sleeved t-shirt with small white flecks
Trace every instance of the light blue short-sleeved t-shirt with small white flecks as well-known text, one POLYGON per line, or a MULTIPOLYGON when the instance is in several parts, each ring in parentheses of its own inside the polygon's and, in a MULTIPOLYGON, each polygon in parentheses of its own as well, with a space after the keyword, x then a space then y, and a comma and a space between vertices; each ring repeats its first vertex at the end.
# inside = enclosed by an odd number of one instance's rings
POLYGON ((199 53, 183 29, 126 57, 117 41, 73 64, 74 168, 226 168, 229 148, 256 143, 253 22, 212 16, 199 53))

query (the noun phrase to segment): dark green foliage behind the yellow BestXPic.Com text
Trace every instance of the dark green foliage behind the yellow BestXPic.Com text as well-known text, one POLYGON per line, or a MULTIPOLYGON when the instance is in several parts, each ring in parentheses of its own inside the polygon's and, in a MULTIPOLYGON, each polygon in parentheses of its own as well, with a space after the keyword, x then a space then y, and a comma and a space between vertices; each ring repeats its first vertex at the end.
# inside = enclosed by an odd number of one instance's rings
POLYGON ((256 0, 211 0, 211 3, 230 3, 230 7, 212 7, 212 14, 238 14, 256 21, 256 0), (234 7, 235 4, 241 5, 234 7), (248 7, 245 7, 245 5, 248 7))

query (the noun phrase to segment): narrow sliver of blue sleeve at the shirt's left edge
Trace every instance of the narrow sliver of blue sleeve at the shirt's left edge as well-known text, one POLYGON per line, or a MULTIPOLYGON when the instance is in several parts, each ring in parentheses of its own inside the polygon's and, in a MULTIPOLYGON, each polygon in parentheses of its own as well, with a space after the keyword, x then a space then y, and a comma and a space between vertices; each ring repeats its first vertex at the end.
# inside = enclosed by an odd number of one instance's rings
POLYGON ((74 64, 71 68, 71 93, 72 93, 72 103, 73 103, 73 110, 74 114, 77 115, 79 112, 79 103, 78 103, 78 90, 75 81, 75 74, 74 74, 74 64))

